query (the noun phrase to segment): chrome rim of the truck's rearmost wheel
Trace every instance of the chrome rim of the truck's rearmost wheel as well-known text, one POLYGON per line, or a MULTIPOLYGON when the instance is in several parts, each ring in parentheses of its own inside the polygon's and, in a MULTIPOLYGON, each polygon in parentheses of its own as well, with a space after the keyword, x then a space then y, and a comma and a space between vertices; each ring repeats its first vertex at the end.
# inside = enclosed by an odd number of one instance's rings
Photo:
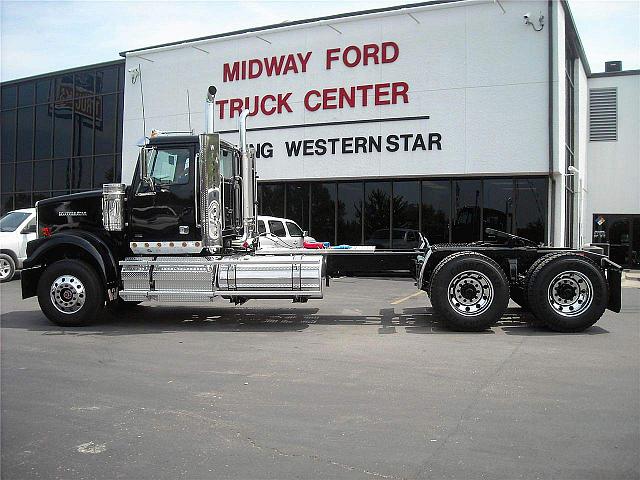
POLYGON ((593 285, 586 275, 576 271, 562 272, 551 281, 549 305, 564 317, 584 313, 593 301, 593 285))

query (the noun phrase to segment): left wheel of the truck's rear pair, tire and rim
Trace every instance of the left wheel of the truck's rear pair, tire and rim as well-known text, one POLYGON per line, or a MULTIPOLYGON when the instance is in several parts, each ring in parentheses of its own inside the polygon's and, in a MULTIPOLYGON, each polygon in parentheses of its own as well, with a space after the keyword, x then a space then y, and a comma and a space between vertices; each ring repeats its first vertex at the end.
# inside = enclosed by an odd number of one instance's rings
POLYGON ((492 259, 458 252, 442 260, 431 275, 433 309, 452 330, 478 332, 498 321, 509 304, 509 284, 492 259))

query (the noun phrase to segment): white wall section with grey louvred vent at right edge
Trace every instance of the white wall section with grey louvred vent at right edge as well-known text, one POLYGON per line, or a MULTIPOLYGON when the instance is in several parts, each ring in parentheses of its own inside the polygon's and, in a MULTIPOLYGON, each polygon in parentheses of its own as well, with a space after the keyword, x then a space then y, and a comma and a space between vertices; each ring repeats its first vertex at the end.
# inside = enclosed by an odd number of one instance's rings
POLYGON ((584 238, 593 215, 640 214, 640 74, 590 78, 589 88, 618 89, 618 140, 587 142, 584 238))

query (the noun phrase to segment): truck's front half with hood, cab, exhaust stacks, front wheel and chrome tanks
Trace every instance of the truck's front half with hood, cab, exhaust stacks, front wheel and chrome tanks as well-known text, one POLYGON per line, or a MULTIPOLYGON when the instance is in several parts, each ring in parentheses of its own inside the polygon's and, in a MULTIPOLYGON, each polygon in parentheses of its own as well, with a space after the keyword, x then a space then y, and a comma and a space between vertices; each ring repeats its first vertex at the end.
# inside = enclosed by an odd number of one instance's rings
POLYGON ((200 135, 154 132, 140 146, 130 186, 106 184, 38 202, 23 298, 37 295, 58 325, 85 325, 109 303, 244 303, 322 298, 321 255, 255 255, 255 154, 213 132, 213 95, 200 135))

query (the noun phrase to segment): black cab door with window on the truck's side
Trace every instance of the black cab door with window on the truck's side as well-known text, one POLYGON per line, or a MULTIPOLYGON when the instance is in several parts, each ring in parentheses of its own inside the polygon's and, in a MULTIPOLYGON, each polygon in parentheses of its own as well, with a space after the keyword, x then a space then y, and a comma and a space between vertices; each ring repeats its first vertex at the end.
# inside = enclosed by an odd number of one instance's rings
POLYGON ((199 239, 194 158, 193 146, 158 145, 147 150, 146 174, 150 181, 136 175, 129 197, 129 231, 133 242, 157 245, 199 239))

